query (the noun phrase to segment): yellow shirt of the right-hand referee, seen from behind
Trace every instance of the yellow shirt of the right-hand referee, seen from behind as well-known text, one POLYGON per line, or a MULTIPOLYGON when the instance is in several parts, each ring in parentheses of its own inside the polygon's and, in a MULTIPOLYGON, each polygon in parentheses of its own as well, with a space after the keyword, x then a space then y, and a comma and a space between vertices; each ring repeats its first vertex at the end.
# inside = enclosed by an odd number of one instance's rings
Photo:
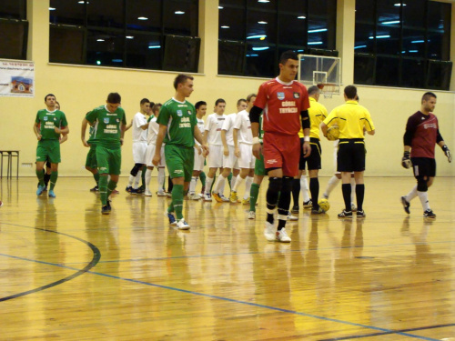
POLYGON ((324 120, 327 126, 339 126, 339 138, 364 138, 363 128, 374 130, 373 121, 366 107, 357 101, 349 100, 333 109, 324 120))

